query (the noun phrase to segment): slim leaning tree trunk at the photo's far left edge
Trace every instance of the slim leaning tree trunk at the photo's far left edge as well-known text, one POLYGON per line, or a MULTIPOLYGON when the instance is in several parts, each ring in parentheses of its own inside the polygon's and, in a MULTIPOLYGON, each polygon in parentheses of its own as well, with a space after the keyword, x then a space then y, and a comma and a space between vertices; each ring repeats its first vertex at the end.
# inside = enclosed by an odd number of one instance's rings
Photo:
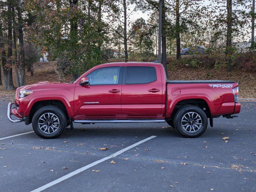
POLYGON ((2 22, 0 21, 0 56, 2 60, 2 67, 3 67, 3 75, 4 75, 4 89, 7 89, 7 70, 6 70, 6 53, 4 49, 4 42, 3 42, 3 33, 2 33, 2 22))

